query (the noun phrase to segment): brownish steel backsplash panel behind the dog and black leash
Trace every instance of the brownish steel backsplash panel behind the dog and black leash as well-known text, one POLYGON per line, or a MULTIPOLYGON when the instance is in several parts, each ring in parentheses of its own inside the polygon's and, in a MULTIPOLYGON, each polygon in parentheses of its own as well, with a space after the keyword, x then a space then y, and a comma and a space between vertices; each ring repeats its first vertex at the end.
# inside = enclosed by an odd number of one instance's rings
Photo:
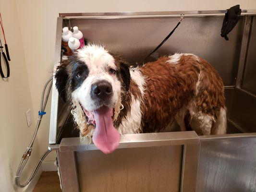
MULTIPOLYGON (((171 32, 179 18, 73 19, 89 42, 104 44, 119 52, 131 64, 141 62, 171 32)), ((229 34, 220 37, 223 17, 184 18, 182 23, 153 55, 175 52, 194 53, 208 60, 218 70, 225 85, 235 85, 244 18, 229 34)))

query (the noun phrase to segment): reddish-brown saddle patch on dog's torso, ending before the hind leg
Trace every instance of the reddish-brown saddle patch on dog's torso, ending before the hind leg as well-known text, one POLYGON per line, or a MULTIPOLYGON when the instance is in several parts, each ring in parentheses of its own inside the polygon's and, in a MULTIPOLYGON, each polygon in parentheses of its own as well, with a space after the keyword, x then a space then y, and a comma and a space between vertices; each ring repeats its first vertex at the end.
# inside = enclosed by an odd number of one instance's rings
POLYGON ((183 105, 193 97, 199 72, 195 65, 170 64, 162 57, 141 67, 146 76, 143 132, 165 128, 183 105))

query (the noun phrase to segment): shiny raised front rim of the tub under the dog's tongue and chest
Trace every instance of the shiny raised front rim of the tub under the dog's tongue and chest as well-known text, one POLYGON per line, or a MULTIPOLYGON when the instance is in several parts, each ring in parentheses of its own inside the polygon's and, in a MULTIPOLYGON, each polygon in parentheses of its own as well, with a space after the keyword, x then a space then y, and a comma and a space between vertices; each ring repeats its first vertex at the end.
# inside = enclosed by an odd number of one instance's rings
MULTIPOLYGON (((118 148, 137 148, 182 144, 199 144, 199 137, 194 131, 126 134, 121 136, 118 148)), ((90 144, 88 140, 81 141, 78 137, 63 138, 61 140, 61 152, 90 150, 98 150, 98 148, 94 144, 90 144)))

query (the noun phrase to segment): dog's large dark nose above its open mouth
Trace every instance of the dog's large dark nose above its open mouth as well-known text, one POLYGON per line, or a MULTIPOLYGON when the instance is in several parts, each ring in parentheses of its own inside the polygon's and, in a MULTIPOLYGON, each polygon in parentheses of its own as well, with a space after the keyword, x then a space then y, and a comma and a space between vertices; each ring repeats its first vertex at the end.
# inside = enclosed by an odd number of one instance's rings
POLYGON ((107 81, 102 80, 92 84, 91 95, 93 97, 106 99, 109 96, 111 96, 112 93, 113 93, 112 86, 107 81))

